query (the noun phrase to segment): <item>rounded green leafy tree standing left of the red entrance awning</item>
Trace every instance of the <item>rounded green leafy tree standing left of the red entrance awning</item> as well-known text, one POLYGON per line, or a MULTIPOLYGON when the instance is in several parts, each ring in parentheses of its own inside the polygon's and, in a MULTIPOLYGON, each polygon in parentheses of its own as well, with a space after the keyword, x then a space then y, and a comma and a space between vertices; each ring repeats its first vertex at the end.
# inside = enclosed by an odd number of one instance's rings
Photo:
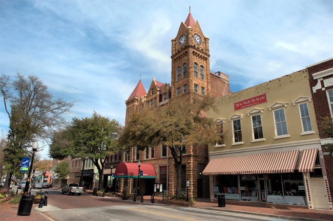
POLYGON ((120 130, 117 120, 96 112, 91 117, 73 118, 70 126, 53 138, 50 155, 55 158, 90 158, 99 173, 98 189, 102 189, 106 157, 118 149, 116 140, 120 130))

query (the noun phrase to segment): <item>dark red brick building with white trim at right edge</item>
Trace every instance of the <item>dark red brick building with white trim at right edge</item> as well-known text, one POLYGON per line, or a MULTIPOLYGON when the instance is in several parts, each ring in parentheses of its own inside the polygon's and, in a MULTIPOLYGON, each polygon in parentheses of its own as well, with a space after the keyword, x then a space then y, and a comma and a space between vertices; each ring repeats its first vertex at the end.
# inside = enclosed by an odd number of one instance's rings
MULTIPOLYGON (((314 100, 321 145, 332 145, 332 137, 323 133, 320 123, 325 117, 333 117, 333 58, 309 65, 306 68, 309 74, 309 84, 314 100)), ((325 182, 329 183, 330 192, 333 193, 333 156, 325 147, 322 149, 326 165, 325 182)))

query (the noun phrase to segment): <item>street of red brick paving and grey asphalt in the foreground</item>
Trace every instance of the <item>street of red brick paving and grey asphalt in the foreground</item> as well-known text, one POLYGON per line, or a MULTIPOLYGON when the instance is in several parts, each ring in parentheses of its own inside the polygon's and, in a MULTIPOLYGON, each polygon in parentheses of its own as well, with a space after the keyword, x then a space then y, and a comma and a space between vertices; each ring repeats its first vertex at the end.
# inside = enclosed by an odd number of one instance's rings
POLYGON ((112 197, 92 195, 61 195, 59 190, 49 190, 48 206, 35 209, 57 221, 244 221, 279 220, 241 213, 215 211, 199 208, 173 207, 149 203, 132 202, 112 197))

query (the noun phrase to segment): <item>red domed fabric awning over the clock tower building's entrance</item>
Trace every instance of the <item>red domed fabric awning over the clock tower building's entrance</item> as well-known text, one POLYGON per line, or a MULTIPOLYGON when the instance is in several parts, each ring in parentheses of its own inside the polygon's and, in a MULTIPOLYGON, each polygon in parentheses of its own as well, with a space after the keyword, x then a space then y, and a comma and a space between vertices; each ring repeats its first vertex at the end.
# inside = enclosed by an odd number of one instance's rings
MULTIPOLYGON (((156 178, 155 168, 151 164, 141 164, 140 171, 142 175, 140 178, 156 178)), ((136 163, 119 163, 114 177, 116 178, 137 178, 139 167, 136 163)))

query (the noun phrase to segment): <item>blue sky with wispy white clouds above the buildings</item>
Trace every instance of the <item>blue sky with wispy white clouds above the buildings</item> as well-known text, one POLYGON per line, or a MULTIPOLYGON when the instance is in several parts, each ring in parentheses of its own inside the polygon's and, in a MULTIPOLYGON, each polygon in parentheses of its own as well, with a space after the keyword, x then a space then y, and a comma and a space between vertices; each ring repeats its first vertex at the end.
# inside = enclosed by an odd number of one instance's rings
MULTIPOLYGON (((189 6, 210 38, 211 71, 229 75, 233 92, 333 55, 331 0, 0 0, 0 73, 38 76, 75 102, 68 120, 96 111, 124 124, 139 79, 146 90, 153 77, 171 83, 171 39, 189 6)), ((2 136, 8 122, 1 102, 2 136)))

